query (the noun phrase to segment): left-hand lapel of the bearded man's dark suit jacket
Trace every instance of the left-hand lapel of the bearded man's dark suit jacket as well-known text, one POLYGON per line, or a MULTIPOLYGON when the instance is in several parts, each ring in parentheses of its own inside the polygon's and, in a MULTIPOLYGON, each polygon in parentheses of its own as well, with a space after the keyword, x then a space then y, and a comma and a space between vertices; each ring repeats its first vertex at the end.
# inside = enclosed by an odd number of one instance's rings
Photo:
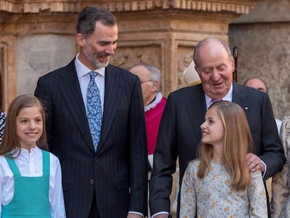
POLYGON ((64 69, 60 72, 59 90, 71 112, 72 117, 74 118, 74 121, 76 121, 85 142, 87 142, 92 151, 94 151, 90 136, 90 128, 88 127, 87 116, 85 114, 85 105, 83 104, 81 88, 78 83, 76 68, 74 66, 74 60, 72 60, 67 67, 64 67, 64 69))

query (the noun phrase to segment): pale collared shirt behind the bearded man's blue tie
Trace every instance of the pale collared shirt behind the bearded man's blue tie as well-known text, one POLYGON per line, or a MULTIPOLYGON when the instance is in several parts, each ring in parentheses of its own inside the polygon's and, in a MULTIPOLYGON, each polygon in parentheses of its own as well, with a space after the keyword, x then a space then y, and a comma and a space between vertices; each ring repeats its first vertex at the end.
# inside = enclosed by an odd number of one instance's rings
POLYGON ((81 88, 81 95, 83 96, 83 104, 85 104, 85 111, 87 111, 87 94, 88 94, 88 84, 90 83, 90 71, 97 72, 95 77, 95 83, 97 88, 99 88, 99 95, 101 96, 102 113, 104 114, 104 89, 105 89, 105 68, 99 68, 95 70, 88 69, 83 63, 78 60, 78 55, 74 60, 74 65, 76 66, 76 74, 78 75, 78 83, 81 88))

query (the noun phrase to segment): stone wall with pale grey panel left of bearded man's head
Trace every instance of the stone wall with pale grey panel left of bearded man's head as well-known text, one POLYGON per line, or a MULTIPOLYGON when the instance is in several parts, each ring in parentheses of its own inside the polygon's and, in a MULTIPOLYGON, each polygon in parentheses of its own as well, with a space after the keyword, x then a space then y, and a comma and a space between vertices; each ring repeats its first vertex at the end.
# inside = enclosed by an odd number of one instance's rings
POLYGON ((16 95, 34 94, 39 76, 76 54, 76 13, 10 13, 0 26, 4 109, 16 95))

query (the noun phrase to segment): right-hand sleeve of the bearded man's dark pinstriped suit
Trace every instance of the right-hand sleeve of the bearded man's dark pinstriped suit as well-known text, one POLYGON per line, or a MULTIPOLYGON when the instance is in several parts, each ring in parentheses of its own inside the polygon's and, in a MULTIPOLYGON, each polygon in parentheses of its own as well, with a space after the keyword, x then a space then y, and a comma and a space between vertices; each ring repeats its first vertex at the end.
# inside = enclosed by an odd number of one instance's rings
MULTIPOLYGON (((147 214, 148 158, 144 104, 139 79, 130 106, 130 205, 129 211, 147 214)), ((113 209, 113 208, 112 208, 113 209)))

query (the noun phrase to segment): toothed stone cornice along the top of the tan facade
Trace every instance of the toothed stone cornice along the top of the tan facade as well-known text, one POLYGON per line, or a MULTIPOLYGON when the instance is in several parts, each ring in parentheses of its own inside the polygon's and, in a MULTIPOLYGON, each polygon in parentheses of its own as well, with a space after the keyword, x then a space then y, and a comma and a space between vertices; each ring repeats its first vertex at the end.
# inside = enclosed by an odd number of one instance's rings
MULTIPOLYGON (((77 12, 83 6, 96 4, 96 1, 72 2, 72 1, 11 1, 2 0, 0 11, 11 13, 39 13, 40 11, 52 12, 77 12)), ((193 0, 142 0, 142 1, 98 1, 98 5, 108 8, 110 11, 147 11, 156 8, 162 9, 182 9, 194 11, 227 11, 229 13, 249 13, 256 5, 256 0, 244 1, 193 1, 193 0)))

